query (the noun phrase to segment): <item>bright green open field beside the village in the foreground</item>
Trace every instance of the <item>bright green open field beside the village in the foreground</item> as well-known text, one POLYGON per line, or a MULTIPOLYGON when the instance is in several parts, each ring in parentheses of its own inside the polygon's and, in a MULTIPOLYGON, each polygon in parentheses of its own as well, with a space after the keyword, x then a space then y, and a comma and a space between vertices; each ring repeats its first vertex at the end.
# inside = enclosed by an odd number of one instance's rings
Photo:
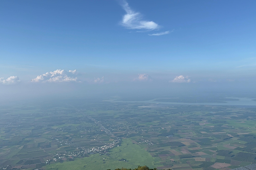
POLYGON ((153 157, 139 145, 133 144, 131 140, 123 140, 122 144, 110 150, 110 155, 93 154, 90 157, 81 159, 75 159, 74 161, 68 161, 63 163, 55 163, 44 166, 44 169, 48 170, 78 170, 78 169, 90 169, 90 170, 106 170, 116 169, 121 167, 136 168, 138 165, 147 165, 150 168, 157 167, 153 157), (105 159, 103 159, 105 158, 105 159), (120 159, 126 159, 128 162, 119 161, 120 159), (104 160, 104 161, 103 161, 104 160))

